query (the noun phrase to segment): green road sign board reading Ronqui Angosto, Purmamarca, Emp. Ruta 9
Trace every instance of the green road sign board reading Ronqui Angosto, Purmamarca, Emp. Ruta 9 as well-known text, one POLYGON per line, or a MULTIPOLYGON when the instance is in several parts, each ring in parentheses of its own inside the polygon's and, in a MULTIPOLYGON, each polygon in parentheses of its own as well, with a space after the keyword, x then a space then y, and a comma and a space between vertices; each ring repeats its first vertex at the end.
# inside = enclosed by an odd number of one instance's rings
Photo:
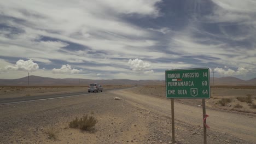
POLYGON ((166 70, 166 98, 209 99, 209 74, 208 68, 166 70))

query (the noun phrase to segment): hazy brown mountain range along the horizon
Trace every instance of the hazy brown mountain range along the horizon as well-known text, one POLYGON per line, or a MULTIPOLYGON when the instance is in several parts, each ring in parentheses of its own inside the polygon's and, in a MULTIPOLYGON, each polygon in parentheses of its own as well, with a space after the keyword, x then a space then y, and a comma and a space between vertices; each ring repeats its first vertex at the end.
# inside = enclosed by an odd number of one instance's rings
MULTIPOLYGON (((165 85, 165 81, 158 80, 89 80, 89 79, 53 79, 50 77, 30 76, 30 86, 53 86, 53 85, 88 85, 89 83, 98 82, 101 85, 165 85)), ((211 85, 256 85, 256 78, 251 80, 241 80, 236 77, 214 77, 211 78, 211 85)), ((0 79, 0 86, 27 86, 28 77, 21 79, 0 79)))

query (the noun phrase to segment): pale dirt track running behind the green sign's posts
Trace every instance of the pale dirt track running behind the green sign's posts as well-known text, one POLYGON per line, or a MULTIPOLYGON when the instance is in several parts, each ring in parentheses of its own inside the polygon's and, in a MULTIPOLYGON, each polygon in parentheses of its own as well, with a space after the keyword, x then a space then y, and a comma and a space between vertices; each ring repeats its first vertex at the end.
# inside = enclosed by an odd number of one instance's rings
MULTIPOLYGON (((130 104, 141 109, 147 109, 160 115, 171 117, 171 100, 161 99, 148 95, 132 93, 128 90, 110 92, 126 99, 130 104)), ((230 134, 252 143, 256 141, 256 117, 239 115, 216 110, 206 110, 210 115, 207 124, 212 130, 223 134, 230 134)), ((191 125, 202 125, 202 107, 195 107, 180 103, 174 103, 174 117, 178 121, 191 125)), ((211 130, 209 129, 209 130, 211 130)))

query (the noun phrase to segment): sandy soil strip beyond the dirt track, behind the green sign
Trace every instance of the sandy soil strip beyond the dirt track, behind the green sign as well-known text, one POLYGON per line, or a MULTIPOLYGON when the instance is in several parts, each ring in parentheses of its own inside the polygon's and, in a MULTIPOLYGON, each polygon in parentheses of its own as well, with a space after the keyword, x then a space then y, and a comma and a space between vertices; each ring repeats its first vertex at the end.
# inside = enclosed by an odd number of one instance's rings
MULTIPOLYGON (((225 87, 225 86, 224 86, 225 87)), ((252 109, 251 106, 254 104, 256 105, 256 88, 249 87, 252 89, 248 89, 247 87, 243 86, 242 89, 239 88, 221 88, 214 87, 211 88, 211 98, 206 99, 206 106, 212 109, 218 110, 229 110, 229 111, 239 111, 239 112, 246 112, 246 113, 255 113, 256 109, 252 109), (252 103, 241 102, 237 100, 237 97, 248 97, 251 95, 252 103), (219 100, 223 98, 230 99, 231 102, 226 103, 225 106, 219 104, 219 100), (241 108, 236 108, 235 105, 242 105, 241 108)), ((152 95, 155 97, 166 97, 165 86, 143 86, 138 87, 136 89, 132 89, 132 92, 144 94, 144 95, 152 95)), ((202 100, 201 99, 175 99, 178 103, 193 105, 193 106, 201 106, 202 100)))

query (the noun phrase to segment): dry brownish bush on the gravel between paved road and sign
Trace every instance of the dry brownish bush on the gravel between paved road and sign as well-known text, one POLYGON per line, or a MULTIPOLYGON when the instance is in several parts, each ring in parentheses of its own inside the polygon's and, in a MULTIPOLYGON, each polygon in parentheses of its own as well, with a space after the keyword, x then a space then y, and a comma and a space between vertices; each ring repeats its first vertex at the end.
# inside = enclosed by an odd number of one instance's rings
POLYGON ((70 128, 79 128, 81 130, 91 130, 98 120, 95 117, 85 115, 82 118, 75 118, 74 121, 69 123, 70 128))

